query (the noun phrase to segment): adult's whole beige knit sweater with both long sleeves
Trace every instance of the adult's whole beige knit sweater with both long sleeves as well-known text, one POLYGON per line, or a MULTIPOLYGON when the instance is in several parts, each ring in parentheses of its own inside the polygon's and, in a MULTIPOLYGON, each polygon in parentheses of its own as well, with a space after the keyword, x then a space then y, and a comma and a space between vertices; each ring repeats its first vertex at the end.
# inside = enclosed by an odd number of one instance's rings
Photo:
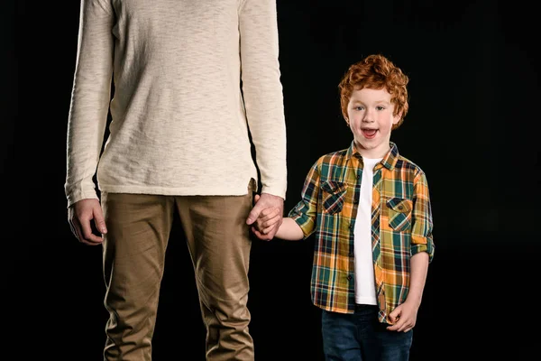
POLYGON ((97 198, 96 171, 109 192, 246 194, 249 132, 261 191, 285 198, 278 53, 273 0, 82 0, 68 205, 97 198))

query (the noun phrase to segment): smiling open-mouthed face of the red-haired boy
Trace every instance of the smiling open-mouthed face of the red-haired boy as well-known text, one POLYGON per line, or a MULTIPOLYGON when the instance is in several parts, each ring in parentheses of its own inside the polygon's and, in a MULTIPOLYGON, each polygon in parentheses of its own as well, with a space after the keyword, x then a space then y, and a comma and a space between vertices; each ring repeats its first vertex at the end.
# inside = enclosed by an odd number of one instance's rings
POLYGON ((390 130, 400 120, 393 112, 386 89, 353 90, 347 116, 355 146, 363 157, 382 158, 389 152, 390 130))

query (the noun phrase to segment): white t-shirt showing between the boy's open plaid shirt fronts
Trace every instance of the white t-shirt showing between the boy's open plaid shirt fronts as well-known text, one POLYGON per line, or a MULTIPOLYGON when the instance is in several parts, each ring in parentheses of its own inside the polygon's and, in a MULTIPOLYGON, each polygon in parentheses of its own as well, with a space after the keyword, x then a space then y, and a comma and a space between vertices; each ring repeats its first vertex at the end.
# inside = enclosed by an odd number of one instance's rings
POLYGON ((355 303, 377 304, 374 281, 374 264, 372 260, 371 241, 371 200, 374 166, 382 158, 362 158, 361 194, 354 229, 355 254, 355 303))

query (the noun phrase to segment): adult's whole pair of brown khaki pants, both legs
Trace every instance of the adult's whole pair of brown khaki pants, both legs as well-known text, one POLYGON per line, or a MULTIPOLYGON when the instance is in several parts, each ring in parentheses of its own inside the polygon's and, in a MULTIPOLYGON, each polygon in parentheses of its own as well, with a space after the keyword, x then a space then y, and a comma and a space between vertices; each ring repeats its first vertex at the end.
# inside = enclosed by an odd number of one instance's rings
MULTIPOLYGON (((155 196, 103 193, 105 360, 151 360, 160 282, 174 208, 196 274, 207 360, 253 360, 248 331, 251 241, 246 196, 155 196)), ((182 355, 179 355, 181 357, 182 355)), ((175 356, 176 358, 176 356, 175 356)), ((179 358, 181 359, 181 358, 179 358)))

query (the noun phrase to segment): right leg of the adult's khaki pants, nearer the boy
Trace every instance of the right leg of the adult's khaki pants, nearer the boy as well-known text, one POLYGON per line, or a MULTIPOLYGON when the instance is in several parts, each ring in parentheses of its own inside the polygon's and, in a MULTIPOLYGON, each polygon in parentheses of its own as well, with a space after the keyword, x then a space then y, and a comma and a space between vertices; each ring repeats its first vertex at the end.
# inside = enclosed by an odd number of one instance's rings
POLYGON ((177 197, 182 227, 194 264, 206 359, 253 360, 247 308, 252 190, 245 196, 177 197))

